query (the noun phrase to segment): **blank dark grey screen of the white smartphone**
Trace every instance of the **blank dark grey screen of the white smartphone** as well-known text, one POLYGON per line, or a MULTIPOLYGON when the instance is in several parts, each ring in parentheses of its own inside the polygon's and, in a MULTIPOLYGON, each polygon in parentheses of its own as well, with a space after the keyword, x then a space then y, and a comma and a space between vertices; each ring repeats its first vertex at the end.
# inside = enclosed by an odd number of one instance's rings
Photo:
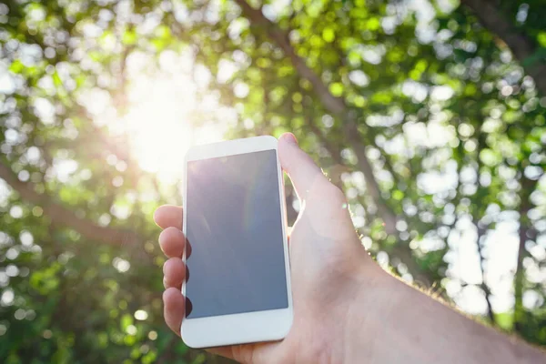
POLYGON ((187 163, 188 319, 288 308, 275 150, 187 163))

